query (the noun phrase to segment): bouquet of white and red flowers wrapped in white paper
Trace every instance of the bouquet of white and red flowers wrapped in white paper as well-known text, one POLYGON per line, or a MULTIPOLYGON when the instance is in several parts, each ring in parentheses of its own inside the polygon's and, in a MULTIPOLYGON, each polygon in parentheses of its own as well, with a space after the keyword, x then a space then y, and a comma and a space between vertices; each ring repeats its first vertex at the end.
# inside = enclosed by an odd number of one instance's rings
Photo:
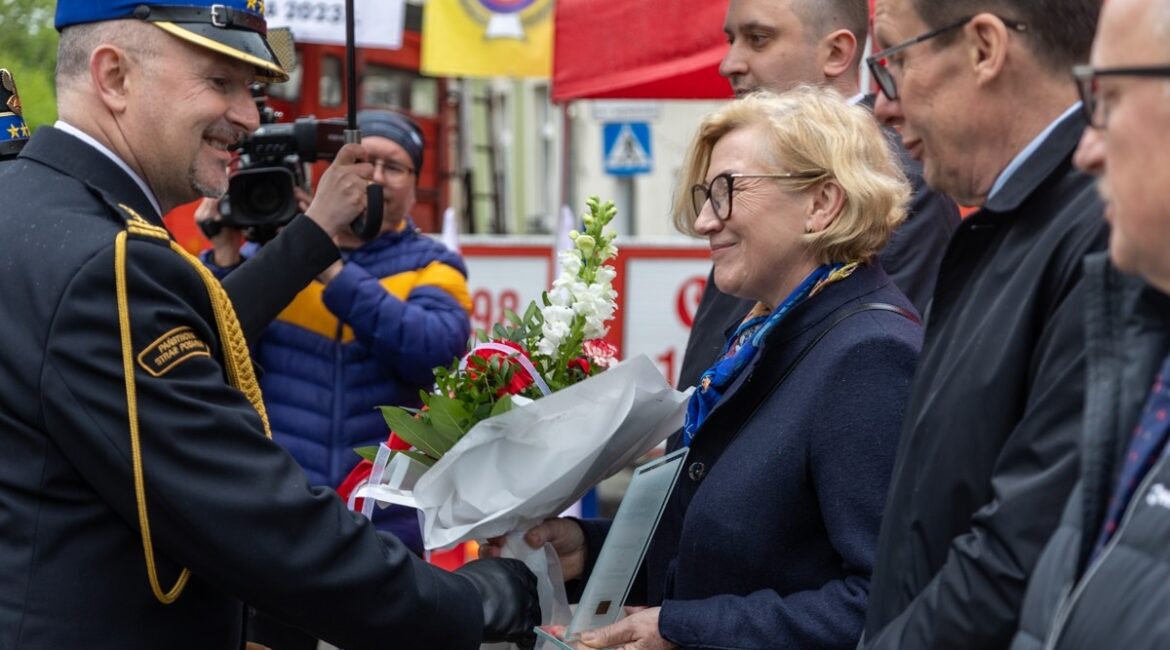
POLYGON ((431 549, 502 535, 563 512, 681 426, 687 395, 644 355, 617 364, 601 340, 615 307, 617 210, 587 205, 541 304, 436 368, 422 408, 381 408, 393 433, 358 450, 369 462, 338 489, 351 506, 418 507, 431 549))

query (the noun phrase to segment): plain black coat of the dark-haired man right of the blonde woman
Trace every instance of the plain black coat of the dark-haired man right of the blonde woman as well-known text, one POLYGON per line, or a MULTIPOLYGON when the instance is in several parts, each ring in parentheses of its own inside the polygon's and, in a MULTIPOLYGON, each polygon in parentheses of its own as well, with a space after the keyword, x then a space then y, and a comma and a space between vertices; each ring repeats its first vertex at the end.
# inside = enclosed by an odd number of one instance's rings
POLYGON ((1004 648, 1076 478, 1081 260, 1107 227, 1061 119, 943 258, 874 568, 867 648, 1004 648))

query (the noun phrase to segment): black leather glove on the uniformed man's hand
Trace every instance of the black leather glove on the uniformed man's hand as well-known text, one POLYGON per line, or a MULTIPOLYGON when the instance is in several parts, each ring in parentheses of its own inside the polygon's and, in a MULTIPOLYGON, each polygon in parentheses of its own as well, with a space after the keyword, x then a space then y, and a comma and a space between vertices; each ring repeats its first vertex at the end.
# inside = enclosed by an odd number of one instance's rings
POLYGON ((483 642, 508 642, 531 648, 532 628, 541 624, 541 601, 536 576, 524 562, 489 558, 468 562, 456 575, 472 581, 483 601, 483 642))

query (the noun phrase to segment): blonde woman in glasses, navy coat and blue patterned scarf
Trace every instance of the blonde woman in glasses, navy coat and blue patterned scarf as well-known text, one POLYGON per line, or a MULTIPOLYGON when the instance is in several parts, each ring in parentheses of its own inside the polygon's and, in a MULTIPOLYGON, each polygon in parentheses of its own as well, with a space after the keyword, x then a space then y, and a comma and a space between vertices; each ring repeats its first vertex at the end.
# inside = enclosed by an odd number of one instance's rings
MULTIPOLYGON (((690 451, 627 602, 647 607, 583 645, 856 645, 921 344, 875 260, 909 193, 873 116, 831 90, 702 122, 675 223, 710 243, 718 289, 757 305, 670 440, 690 451)), ((585 578, 607 524, 553 519, 528 541, 585 578)))

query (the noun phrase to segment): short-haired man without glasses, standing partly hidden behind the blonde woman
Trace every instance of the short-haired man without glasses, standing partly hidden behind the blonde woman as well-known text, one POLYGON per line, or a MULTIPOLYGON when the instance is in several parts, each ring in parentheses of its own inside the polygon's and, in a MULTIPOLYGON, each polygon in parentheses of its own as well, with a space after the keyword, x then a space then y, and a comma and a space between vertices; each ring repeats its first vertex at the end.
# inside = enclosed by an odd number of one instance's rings
MULTIPOLYGON (((723 25, 729 48, 720 74, 739 97, 752 90, 783 92, 798 84, 814 84, 873 106, 873 96, 858 90, 868 21, 866 0, 731 0, 723 25)), ((897 133, 887 129, 887 136, 914 194, 906 221, 881 251, 881 265, 915 309, 925 313, 938 262, 959 222, 958 208, 925 186, 922 166, 906 153, 897 133)), ((698 381, 723 350, 728 330, 743 320, 752 304, 723 293, 708 276, 679 386, 698 381)))

